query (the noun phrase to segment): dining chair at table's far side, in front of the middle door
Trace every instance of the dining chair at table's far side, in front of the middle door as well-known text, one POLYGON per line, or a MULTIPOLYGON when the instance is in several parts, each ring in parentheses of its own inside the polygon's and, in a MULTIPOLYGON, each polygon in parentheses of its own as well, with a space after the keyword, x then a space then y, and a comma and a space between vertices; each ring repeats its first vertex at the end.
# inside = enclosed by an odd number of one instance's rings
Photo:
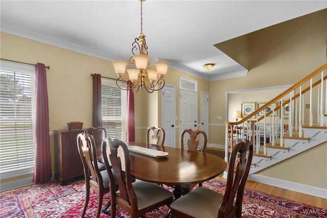
MULTIPOLYGON (((197 137, 202 134, 203 136, 203 144, 202 144, 202 149, 201 152, 205 152, 206 144, 207 144, 207 137, 206 133, 203 130, 192 130, 192 129, 185 129, 182 131, 181 136, 180 136, 180 149, 184 149, 184 135, 188 133, 190 136, 190 139, 188 139, 188 150, 189 151, 197 151, 198 146, 199 146, 199 140, 197 137)), ((189 184, 189 185, 182 185, 181 189, 183 191, 183 195, 186 193, 190 192, 196 184, 189 184)), ((199 183, 199 187, 202 186, 202 183, 199 183)))

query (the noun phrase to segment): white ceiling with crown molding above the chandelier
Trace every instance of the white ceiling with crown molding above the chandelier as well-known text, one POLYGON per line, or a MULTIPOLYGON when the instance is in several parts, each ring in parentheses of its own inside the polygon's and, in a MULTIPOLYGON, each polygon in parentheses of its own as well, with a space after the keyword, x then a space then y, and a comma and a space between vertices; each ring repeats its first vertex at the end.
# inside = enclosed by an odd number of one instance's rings
MULTIPOLYGON (((141 32, 140 2, 0 1, 1 32, 110 61, 128 60, 141 32)), ((327 8, 327 1, 159 1, 143 3, 150 63, 206 80, 247 70, 214 44, 327 8), (211 70, 205 63, 215 63, 211 70)), ((49 63, 50 64, 50 63, 49 63)))

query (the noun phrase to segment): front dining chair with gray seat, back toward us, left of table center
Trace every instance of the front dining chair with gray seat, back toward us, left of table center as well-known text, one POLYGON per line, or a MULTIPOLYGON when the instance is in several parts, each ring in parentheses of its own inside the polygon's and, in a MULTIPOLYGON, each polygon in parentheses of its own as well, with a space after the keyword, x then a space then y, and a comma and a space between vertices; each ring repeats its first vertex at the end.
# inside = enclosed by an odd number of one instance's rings
POLYGON ((131 165, 126 144, 119 140, 103 141, 103 158, 109 175, 111 217, 115 217, 116 207, 126 210, 132 218, 173 202, 173 193, 158 184, 137 180, 131 181, 131 165), (116 177, 110 170, 110 165, 116 177), (116 191, 115 184, 118 185, 116 191))

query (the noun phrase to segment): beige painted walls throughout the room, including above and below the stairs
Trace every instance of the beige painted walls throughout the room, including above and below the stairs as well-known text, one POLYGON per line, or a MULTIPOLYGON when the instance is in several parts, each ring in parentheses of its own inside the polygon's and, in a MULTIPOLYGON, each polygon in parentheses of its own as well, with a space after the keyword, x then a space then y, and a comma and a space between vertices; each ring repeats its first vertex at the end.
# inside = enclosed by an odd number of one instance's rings
MULTIPOLYGON (((200 118, 200 92, 209 93, 209 143, 224 144, 225 93, 230 90, 251 89, 292 84, 309 74, 326 61, 327 10, 276 25, 272 29, 250 35, 248 53, 250 70, 246 77, 208 82, 184 72, 169 69, 167 84, 176 87, 176 116, 179 117, 179 76, 198 81, 198 120, 200 118), (218 120, 217 116, 222 116, 218 120)), ((83 122, 91 126, 92 80, 90 74, 115 78, 110 61, 61 49, 56 46, 1 33, 1 58, 50 65, 47 70, 50 131, 67 129, 66 123, 83 122)), ((232 44, 232 43, 231 43, 232 44)), ((231 45, 231 49, 232 45, 231 45)), ((235 53, 234 53, 235 54, 235 53)), ((242 56, 244 57, 244 56, 242 56)), ((243 60, 242 59, 242 60, 243 60)), ((247 65, 247 64, 244 64, 247 65)), ((148 93, 135 94, 135 135, 145 141, 145 127, 161 124, 161 96, 148 93), (155 96, 156 95, 156 96, 155 96), (153 102, 157 101, 157 102, 153 102), (151 106, 151 107, 150 107, 151 106), (156 108, 156 110, 154 109, 156 108), (155 113, 157 111, 157 114, 155 113), (152 120, 152 117, 156 117, 152 120)), ((179 144, 176 128, 176 145, 179 144)), ((54 138, 51 136, 52 170, 54 171, 54 138)), ((327 184, 326 147, 324 143, 310 152, 294 157, 259 174, 277 179, 325 188, 327 184), (311 161, 314 159, 314 161, 311 161), (310 160, 310 161, 309 161, 310 160), (290 165, 288 165, 290 163, 290 165), (306 164, 306 167, 301 167, 306 164), (320 164, 321 168, 316 167, 320 164), (295 168, 296 167, 296 168, 295 168), (308 170, 310 168, 311 170, 308 170), (290 176, 285 171, 293 171, 290 176), (317 181, 302 179, 321 178, 317 181)), ((6 182, 6 181, 1 181, 6 182)))

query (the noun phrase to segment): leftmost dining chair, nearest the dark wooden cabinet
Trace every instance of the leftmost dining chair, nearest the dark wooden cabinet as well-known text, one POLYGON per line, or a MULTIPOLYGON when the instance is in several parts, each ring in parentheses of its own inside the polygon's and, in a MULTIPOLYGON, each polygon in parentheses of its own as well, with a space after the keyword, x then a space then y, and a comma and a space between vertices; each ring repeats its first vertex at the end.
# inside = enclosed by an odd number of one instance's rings
MULTIPOLYGON (((86 196, 82 217, 84 217, 90 196, 90 187, 98 192, 97 215, 100 216, 103 195, 109 192, 109 176, 106 170, 100 171, 97 160, 96 143, 94 137, 87 133, 80 133, 77 136, 78 151, 83 163, 86 196)), ((106 204, 105 211, 110 204, 106 204)))

